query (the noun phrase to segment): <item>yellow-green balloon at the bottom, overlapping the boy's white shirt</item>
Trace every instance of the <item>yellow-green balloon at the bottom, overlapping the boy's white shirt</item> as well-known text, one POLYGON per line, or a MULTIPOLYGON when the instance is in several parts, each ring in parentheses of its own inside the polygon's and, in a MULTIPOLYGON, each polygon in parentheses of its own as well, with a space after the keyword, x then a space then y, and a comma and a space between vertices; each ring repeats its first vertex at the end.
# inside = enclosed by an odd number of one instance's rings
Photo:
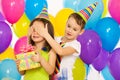
POLYGON ((85 80, 86 67, 84 62, 80 58, 76 59, 72 72, 73 80, 85 80))

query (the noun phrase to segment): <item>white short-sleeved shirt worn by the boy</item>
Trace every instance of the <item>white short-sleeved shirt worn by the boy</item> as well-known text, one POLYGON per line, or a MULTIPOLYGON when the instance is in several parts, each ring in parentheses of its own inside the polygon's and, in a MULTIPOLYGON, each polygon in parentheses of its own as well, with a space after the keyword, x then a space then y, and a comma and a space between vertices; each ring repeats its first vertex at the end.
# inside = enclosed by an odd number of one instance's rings
MULTIPOLYGON (((60 43, 62 37, 56 37, 55 40, 60 43)), ((73 40, 71 42, 65 43, 64 47, 73 47, 78 53, 73 53, 68 56, 63 56, 61 63, 60 63, 60 72, 58 73, 59 76, 62 74, 63 69, 67 69, 67 74, 68 74, 68 80, 73 80, 72 76, 72 69, 74 68, 74 63, 77 57, 79 57, 80 52, 81 52, 81 45, 77 40, 73 40)))

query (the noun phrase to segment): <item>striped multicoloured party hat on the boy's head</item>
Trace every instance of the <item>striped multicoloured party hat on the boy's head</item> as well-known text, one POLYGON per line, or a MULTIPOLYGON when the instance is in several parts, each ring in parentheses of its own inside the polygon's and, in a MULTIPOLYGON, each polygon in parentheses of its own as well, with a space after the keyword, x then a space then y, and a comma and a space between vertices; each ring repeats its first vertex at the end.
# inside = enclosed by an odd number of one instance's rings
POLYGON ((79 12, 77 12, 84 20, 85 22, 87 22, 87 20, 89 19, 89 17, 91 16, 92 12, 94 11, 94 9, 97 6, 97 2, 95 2, 94 4, 91 4, 90 6, 88 6, 85 9, 80 10, 79 12))

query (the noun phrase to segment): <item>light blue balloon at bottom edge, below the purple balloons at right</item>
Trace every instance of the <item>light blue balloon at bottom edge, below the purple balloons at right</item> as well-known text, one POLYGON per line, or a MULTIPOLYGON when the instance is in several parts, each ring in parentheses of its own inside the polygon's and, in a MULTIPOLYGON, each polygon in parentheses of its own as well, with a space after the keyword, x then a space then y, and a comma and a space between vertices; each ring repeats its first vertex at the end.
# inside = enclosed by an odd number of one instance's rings
POLYGON ((102 71, 102 76, 104 77, 105 80, 115 80, 114 77, 111 75, 110 70, 108 66, 106 66, 102 71))

